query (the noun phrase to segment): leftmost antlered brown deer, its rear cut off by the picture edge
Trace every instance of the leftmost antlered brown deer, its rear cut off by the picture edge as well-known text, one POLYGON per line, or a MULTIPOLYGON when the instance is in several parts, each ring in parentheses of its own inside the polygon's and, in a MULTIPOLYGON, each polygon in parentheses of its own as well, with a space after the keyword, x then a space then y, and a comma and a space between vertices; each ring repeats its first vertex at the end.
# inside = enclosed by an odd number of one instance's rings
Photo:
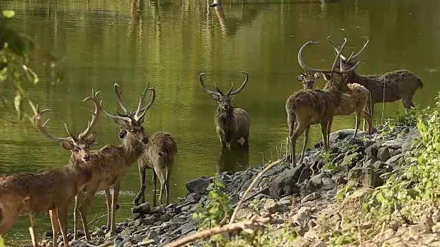
MULTIPOLYGON (((99 92, 98 92, 99 93, 99 92)), ((86 98, 84 100, 87 100, 86 98)), ((30 102, 34 110, 36 127, 47 139, 58 141, 61 147, 72 152, 68 165, 49 169, 44 172, 14 174, 0 178, 0 235, 7 232, 17 222, 19 215, 30 215, 31 236, 35 236, 34 213, 50 211, 52 222, 53 246, 57 245, 57 233, 61 228, 64 246, 67 242, 67 207, 76 194, 83 189, 91 178, 91 163, 94 156, 89 146, 95 143, 96 132, 91 132, 98 118, 95 110, 89 126, 78 137, 71 134, 65 125, 69 137, 54 137, 45 130, 41 117, 50 109, 39 110, 30 102)), ((32 244, 36 242, 32 237, 32 244)))

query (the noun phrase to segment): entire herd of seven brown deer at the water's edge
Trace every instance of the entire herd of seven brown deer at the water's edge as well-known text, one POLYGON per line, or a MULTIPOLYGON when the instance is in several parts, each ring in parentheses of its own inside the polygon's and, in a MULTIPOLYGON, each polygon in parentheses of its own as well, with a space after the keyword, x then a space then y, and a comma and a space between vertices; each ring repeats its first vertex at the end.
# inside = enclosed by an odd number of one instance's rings
MULTIPOLYGON (((306 47, 318 44, 318 41, 309 41, 300 47, 298 62, 306 73, 297 76, 304 89, 294 92, 287 98, 285 110, 289 126, 289 139, 291 141, 292 165, 296 165, 295 145, 298 137, 304 133, 303 151, 299 162, 303 162, 305 148, 312 124, 320 124, 322 143, 325 150, 329 150, 329 135, 333 117, 337 115, 355 114, 355 134, 358 132, 361 117, 368 124, 368 133, 373 131, 374 104, 380 102, 395 102, 401 99, 405 108, 413 107, 412 96, 418 88, 423 86, 421 79, 407 70, 397 70, 383 75, 359 75, 355 69, 360 64, 356 58, 364 51, 369 39, 366 38, 364 47, 358 54, 351 54, 349 58, 342 55, 347 45, 347 38, 340 47, 335 45, 329 37, 327 40, 336 51, 336 57, 331 64, 331 69, 314 69, 303 61, 303 51, 306 47), (338 66, 339 64, 339 66, 338 66), (320 75, 327 82, 324 89, 314 89, 320 75), (294 125, 296 124, 296 130, 294 125)), ((221 147, 248 145, 250 133, 250 117, 241 108, 234 108, 234 96, 243 90, 248 83, 248 73, 243 84, 233 91, 233 85, 227 93, 223 93, 214 84, 216 91, 211 91, 204 84, 204 75, 199 75, 202 88, 218 102, 214 114, 217 135, 221 147)), ((71 152, 66 165, 61 165, 43 172, 13 174, 0 176, 0 235, 6 233, 20 215, 29 215, 30 233, 33 246, 37 246, 34 237, 34 214, 49 211, 52 222, 53 246, 56 246, 57 233, 61 231, 64 246, 69 246, 67 241, 67 209, 72 200, 74 204, 74 239, 78 239, 77 220, 78 213, 83 223, 85 239, 90 240, 88 231, 87 211, 94 200, 97 191, 104 191, 107 201, 107 237, 115 235, 115 209, 118 202, 118 193, 121 187, 122 176, 135 161, 140 174, 140 191, 135 196, 133 203, 145 202, 144 190, 146 169, 153 171, 154 196, 153 205, 156 204, 157 177, 160 182, 159 202, 166 192, 166 204, 169 198, 170 174, 173 170, 177 144, 172 134, 168 132, 155 132, 147 137, 142 126, 146 110, 153 106, 155 89, 148 84, 140 95, 139 103, 134 111, 128 110, 121 99, 120 86, 114 84, 115 96, 122 113, 116 111, 114 115, 107 113, 102 108, 102 99, 98 99, 100 92, 83 99, 83 102, 92 102, 94 111, 91 112, 91 121, 87 128, 76 136, 65 129, 68 137, 54 137, 47 132, 47 121, 43 115, 50 109, 40 110, 39 106, 30 103, 34 112, 36 128, 44 137, 60 143, 61 147, 71 152), (144 99, 151 92, 151 99, 144 105, 144 99), (113 119, 120 128, 118 137, 122 145, 106 145, 100 150, 90 150, 96 140, 94 127, 98 124, 100 113, 113 119), (110 187, 112 193, 110 194, 110 187), (83 192, 87 193, 85 200, 80 201, 83 192)))

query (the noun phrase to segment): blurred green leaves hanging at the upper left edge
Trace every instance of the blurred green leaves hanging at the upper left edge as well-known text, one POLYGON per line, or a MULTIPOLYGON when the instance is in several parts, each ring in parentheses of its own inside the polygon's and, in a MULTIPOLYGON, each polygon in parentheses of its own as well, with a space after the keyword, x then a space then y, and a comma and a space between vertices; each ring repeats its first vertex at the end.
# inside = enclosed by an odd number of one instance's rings
MULTIPOLYGON (((14 17, 13 10, 3 10, 0 12, 0 84, 4 82, 13 83, 16 88, 16 96, 12 101, 17 111, 19 121, 23 118, 30 119, 23 110, 23 101, 28 99, 25 86, 39 84, 39 76, 29 65, 28 53, 36 48, 30 38, 24 34, 19 34, 10 27, 10 20, 14 17), (30 84, 23 84, 27 80, 30 84)), ((38 47, 37 47, 38 48, 38 47)), ((56 60, 52 54, 47 56, 52 70, 52 79, 61 82, 63 73, 56 69, 56 60)), ((3 106, 8 108, 10 99, 0 97, 3 106)), ((28 99, 30 100, 30 99, 28 99)))

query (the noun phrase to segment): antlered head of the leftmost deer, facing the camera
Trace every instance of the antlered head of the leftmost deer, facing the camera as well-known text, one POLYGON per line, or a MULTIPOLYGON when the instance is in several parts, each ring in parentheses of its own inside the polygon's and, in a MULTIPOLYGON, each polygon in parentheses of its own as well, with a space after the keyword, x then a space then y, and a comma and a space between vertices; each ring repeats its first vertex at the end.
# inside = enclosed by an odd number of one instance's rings
POLYGON ((67 131, 67 134, 69 134, 69 137, 54 137, 52 134, 47 132, 45 126, 47 125, 49 119, 47 119, 43 124, 43 122, 41 121, 41 117, 43 116, 44 113, 47 113, 51 109, 39 110, 38 105, 34 106, 34 104, 30 102, 30 106, 34 111, 36 128, 39 129, 41 134, 43 134, 43 136, 46 137, 47 139, 50 139, 52 141, 58 141, 62 148, 64 148, 65 150, 70 150, 72 152, 72 155, 74 156, 75 160, 79 160, 83 162, 88 162, 91 159, 89 148, 90 145, 94 144, 96 140, 96 132, 92 132, 91 130, 93 130, 93 128, 96 126, 96 121, 99 116, 99 108, 100 108, 100 103, 98 103, 96 100, 96 95, 98 95, 100 92, 94 93, 94 91, 92 91, 91 93, 92 96, 83 99, 83 102, 89 99, 93 100, 95 104, 95 110, 94 112, 91 113, 92 115, 91 121, 89 121, 87 128, 83 132, 80 132, 78 137, 75 137, 74 134, 72 134, 69 131, 69 128, 67 128, 67 124, 64 124, 64 126, 67 131))

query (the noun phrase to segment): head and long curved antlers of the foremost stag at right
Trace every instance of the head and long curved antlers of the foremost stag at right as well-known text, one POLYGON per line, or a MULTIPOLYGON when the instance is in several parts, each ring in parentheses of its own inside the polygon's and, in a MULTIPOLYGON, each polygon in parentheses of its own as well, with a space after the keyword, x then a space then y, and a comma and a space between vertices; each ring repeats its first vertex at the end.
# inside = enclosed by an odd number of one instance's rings
POLYGON ((342 75, 353 71, 356 67, 358 67, 358 64, 360 62, 355 64, 355 66, 353 68, 351 68, 347 71, 337 71, 336 70, 336 63, 340 59, 341 52, 344 50, 345 45, 347 45, 347 38, 344 38, 344 44, 342 44, 340 51, 338 51, 338 54, 336 55, 336 58, 333 61, 333 65, 331 66, 331 70, 314 69, 314 68, 308 67, 303 62, 303 51, 304 51, 305 47, 307 47, 307 45, 314 45, 314 44, 318 44, 318 43, 320 43, 320 42, 319 41, 309 41, 309 42, 305 43, 300 48, 300 50, 298 51, 298 62, 300 64, 300 66, 303 67, 303 69, 308 70, 310 72, 322 73, 325 80, 327 80, 327 84, 325 85, 325 89, 333 88, 333 89, 338 89, 343 92, 350 92, 351 90, 349 89, 349 86, 347 86, 347 81, 344 80, 344 78, 342 78, 342 75))

